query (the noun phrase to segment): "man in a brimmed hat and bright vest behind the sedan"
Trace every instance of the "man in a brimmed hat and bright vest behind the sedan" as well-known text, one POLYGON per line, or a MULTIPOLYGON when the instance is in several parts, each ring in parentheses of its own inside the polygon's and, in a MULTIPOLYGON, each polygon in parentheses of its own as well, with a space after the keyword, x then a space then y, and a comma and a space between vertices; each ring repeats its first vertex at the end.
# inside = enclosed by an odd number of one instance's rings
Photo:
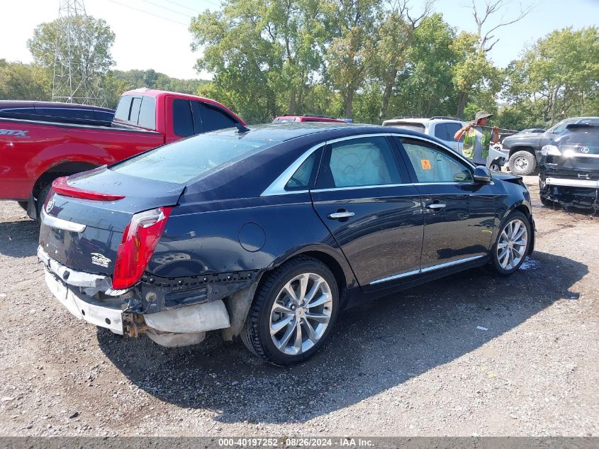
POLYGON ((492 116, 491 113, 478 111, 474 116, 474 121, 463 126, 454 135, 454 139, 458 142, 461 136, 464 135, 461 154, 476 165, 486 165, 489 143, 497 143, 499 140, 499 128, 497 126, 493 126, 492 132, 483 128, 487 124, 488 118, 492 116))

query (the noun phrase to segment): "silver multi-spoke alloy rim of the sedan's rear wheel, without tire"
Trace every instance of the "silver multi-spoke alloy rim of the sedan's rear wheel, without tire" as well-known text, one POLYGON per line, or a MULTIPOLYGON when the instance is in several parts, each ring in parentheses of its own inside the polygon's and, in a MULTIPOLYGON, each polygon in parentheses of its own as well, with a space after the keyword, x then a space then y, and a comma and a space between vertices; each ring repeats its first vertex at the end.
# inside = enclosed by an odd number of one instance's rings
POLYGON ((293 277, 281 289, 270 312, 270 336, 281 353, 305 353, 322 338, 332 314, 331 289, 315 273, 293 277))

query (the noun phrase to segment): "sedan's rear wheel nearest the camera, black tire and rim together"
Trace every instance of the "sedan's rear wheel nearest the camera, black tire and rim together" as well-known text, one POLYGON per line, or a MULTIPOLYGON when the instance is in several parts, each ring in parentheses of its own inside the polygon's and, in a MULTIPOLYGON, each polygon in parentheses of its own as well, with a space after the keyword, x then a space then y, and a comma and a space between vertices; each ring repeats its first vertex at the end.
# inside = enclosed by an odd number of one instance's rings
POLYGON ((339 311, 335 276, 319 260, 296 257, 264 276, 242 331, 247 348, 274 365, 308 360, 339 311))

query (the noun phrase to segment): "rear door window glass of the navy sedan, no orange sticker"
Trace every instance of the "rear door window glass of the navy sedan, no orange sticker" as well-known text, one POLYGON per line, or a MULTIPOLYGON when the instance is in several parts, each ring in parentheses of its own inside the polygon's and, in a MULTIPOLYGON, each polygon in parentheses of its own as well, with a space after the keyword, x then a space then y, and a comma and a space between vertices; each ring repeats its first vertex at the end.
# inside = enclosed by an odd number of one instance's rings
POLYGON ((393 150, 384 137, 365 137, 330 145, 317 188, 384 184, 401 184, 393 150))

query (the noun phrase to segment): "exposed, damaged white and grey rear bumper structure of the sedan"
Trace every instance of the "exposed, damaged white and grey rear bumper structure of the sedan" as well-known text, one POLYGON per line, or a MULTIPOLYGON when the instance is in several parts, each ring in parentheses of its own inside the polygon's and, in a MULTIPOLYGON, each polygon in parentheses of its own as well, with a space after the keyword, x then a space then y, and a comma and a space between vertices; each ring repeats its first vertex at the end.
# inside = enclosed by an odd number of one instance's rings
POLYGON ((45 282, 56 299, 76 318, 113 333, 145 334, 159 345, 175 347, 201 343, 206 332, 231 326, 223 299, 143 313, 131 307, 135 293, 112 290, 110 277, 70 270, 41 247, 38 258, 45 265, 45 282))

